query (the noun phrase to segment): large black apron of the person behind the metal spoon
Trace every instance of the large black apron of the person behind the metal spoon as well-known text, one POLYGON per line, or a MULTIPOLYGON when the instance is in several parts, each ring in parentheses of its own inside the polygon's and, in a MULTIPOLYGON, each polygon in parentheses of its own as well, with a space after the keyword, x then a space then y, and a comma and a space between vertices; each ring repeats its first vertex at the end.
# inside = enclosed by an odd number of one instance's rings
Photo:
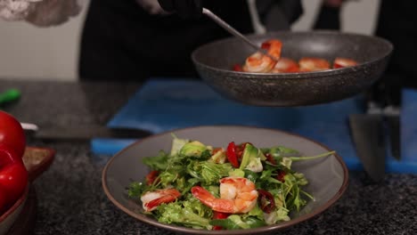
MULTIPOLYGON (((242 33, 253 31, 246 1, 211 0, 210 10, 242 33)), ((80 79, 136 80, 197 77, 191 53, 230 36, 202 17, 150 15, 134 0, 92 0, 81 38, 80 79)))

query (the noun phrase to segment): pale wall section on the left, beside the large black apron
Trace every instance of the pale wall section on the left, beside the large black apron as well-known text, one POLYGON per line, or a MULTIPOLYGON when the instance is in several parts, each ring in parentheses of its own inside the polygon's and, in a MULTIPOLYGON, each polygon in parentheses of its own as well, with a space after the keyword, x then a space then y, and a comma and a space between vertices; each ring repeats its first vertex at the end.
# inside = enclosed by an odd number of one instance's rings
POLYGON ((0 78, 75 80, 83 11, 53 28, 0 20, 0 78))

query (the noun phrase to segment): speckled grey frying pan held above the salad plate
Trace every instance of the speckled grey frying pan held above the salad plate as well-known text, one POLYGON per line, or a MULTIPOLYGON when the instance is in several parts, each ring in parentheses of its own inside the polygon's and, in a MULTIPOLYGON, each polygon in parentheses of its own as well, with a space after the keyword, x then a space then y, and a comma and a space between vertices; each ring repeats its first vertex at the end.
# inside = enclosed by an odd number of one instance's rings
POLYGON ((306 106, 338 101, 363 92, 377 81, 387 67, 393 50, 387 40, 339 31, 271 32, 248 35, 260 45, 270 38, 282 41, 282 57, 299 60, 336 57, 356 60, 358 65, 299 73, 248 73, 233 71, 254 53, 236 37, 201 45, 192 52, 200 77, 225 98, 257 106, 306 106))

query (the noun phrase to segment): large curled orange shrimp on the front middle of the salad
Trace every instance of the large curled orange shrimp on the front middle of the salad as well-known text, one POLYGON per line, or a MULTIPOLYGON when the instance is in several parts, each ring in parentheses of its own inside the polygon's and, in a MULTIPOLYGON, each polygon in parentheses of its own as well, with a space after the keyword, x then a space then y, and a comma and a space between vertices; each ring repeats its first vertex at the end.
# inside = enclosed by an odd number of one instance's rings
POLYGON ((214 211, 247 213, 257 205, 255 183, 243 177, 225 177, 220 180, 220 199, 200 186, 192 187, 192 195, 214 211))

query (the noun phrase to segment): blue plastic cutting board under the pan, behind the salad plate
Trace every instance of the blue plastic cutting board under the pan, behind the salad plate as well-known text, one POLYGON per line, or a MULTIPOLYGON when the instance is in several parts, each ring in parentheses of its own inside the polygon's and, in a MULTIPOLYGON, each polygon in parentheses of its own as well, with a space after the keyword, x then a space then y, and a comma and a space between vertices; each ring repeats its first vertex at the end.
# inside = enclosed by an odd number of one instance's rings
MULTIPOLYGON (((402 159, 387 152, 387 172, 417 173, 417 92, 404 92, 402 159)), ((364 113, 362 96, 306 107, 256 107, 226 100, 194 80, 154 78, 144 84, 108 126, 146 129, 157 134, 176 128, 243 125, 301 134, 336 150, 352 170, 362 170, 350 137, 347 117, 364 113)), ((135 140, 94 139, 95 154, 113 155, 135 140)))

